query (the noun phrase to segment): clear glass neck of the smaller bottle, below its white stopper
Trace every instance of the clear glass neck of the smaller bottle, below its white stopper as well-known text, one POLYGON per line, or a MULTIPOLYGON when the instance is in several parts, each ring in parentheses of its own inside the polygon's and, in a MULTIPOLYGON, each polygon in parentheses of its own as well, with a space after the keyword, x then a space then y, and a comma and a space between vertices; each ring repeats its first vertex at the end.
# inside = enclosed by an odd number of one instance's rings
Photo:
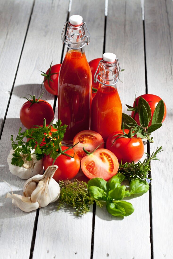
POLYGON ((111 63, 102 61, 100 65, 99 73, 100 73, 100 82, 116 88, 115 83, 118 80, 117 60, 111 63))

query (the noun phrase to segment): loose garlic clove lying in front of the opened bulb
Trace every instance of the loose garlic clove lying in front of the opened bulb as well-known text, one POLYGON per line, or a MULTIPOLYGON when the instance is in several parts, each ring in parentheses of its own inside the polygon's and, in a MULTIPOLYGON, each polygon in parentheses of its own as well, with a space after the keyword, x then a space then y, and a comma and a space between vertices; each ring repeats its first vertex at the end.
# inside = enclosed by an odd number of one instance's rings
POLYGON ((13 193, 11 194, 8 192, 6 194, 6 198, 11 198, 12 203, 18 208, 20 208, 20 210, 25 212, 37 210, 39 207, 39 203, 38 202, 33 203, 30 197, 24 197, 22 195, 13 194, 13 193))

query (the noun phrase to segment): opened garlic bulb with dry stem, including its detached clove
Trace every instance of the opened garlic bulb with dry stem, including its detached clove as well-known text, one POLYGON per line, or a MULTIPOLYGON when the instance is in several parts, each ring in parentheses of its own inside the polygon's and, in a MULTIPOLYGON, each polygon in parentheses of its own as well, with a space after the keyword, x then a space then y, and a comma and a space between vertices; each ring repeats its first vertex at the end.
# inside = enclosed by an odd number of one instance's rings
POLYGON ((35 175, 24 183, 23 195, 10 194, 12 203, 23 211, 32 211, 55 202, 60 195, 59 184, 52 178, 58 166, 49 166, 43 175, 35 175))

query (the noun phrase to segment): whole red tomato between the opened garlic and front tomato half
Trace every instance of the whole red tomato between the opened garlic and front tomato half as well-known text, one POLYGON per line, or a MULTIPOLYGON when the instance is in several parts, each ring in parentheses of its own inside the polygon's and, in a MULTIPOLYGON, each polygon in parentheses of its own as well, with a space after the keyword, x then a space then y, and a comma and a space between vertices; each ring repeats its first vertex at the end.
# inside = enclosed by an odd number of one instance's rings
MULTIPOLYGON (((68 149, 68 147, 61 147, 62 150, 68 149)), ((54 162, 54 165, 58 166, 53 178, 58 182, 61 180, 72 179, 77 175, 80 169, 80 160, 78 155, 75 153, 73 149, 69 149, 65 152, 70 156, 74 156, 73 158, 61 154, 54 162)), ((44 170, 47 169, 48 166, 52 166, 53 159, 48 155, 43 158, 43 166, 44 170)))

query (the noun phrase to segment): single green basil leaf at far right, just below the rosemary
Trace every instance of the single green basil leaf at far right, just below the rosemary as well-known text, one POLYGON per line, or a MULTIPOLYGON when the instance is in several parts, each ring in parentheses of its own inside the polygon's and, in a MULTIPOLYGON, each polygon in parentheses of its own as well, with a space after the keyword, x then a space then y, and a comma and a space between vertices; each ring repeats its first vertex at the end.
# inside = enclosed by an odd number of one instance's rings
POLYGON ((135 179, 130 182, 130 195, 131 194, 143 194, 149 190, 149 184, 147 182, 143 182, 140 179, 135 179))

